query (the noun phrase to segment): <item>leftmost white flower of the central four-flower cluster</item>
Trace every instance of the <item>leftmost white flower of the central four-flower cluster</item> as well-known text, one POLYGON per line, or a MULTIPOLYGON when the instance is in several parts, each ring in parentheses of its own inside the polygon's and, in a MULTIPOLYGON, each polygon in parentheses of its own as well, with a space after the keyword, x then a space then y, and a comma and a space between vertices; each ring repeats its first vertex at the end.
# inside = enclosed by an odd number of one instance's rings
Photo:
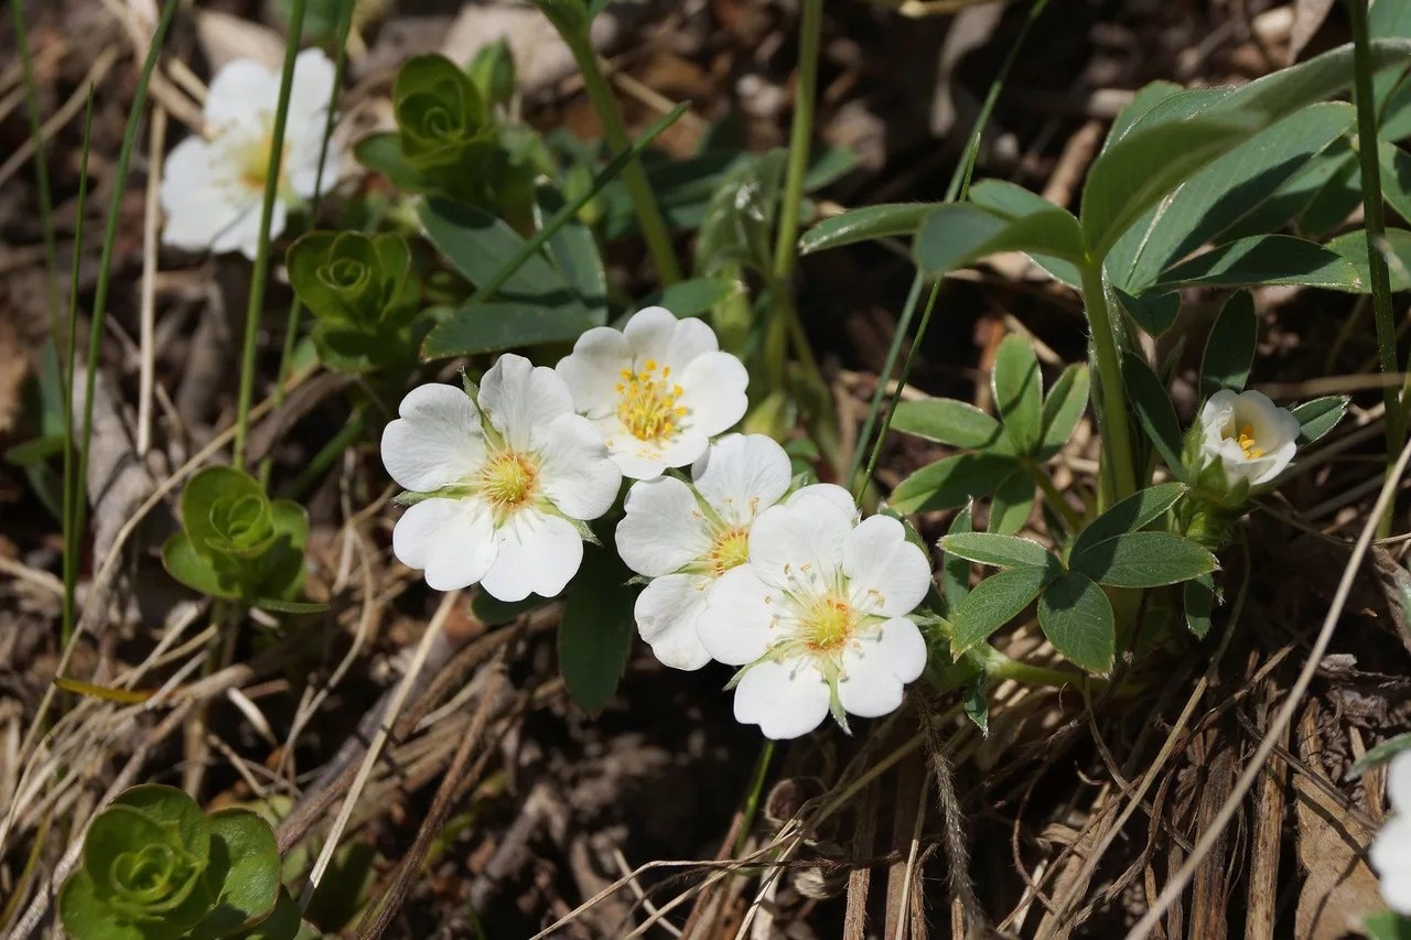
POLYGON ((420 385, 382 432, 398 484, 432 493, 392 531, 392 552, 439 591, 480 582, 502 601, 553 597, 583 562, 581 521, 612 505, 622 474, 563 380, 501 356, 478 406, 453 385, 420 385))

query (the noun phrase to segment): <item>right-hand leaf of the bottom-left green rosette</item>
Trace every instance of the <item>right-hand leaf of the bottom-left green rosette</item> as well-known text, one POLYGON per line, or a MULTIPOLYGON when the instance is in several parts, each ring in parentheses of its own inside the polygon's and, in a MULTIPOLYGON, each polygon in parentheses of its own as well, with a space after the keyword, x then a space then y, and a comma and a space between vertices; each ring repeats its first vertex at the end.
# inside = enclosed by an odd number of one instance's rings
POLYGON ((210 826, 206 879, 216 903, 196 924, 192 940, 226 937, 253 927, 279 899, 279 847, 262 817, 246 809, 217 810, 210 826))

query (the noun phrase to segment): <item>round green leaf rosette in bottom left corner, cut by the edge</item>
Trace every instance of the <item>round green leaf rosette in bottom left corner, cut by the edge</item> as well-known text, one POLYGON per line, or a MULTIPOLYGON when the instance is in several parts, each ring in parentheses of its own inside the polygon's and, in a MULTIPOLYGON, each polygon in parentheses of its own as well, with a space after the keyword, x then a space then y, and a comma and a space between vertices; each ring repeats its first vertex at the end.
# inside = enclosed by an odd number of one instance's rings
POLYGON ((207 816, 157 783, 124 790, 93 819, 59 892, 73 940, 292 937, 298 908, 289 913, 264 819, 243 809, 207 816))

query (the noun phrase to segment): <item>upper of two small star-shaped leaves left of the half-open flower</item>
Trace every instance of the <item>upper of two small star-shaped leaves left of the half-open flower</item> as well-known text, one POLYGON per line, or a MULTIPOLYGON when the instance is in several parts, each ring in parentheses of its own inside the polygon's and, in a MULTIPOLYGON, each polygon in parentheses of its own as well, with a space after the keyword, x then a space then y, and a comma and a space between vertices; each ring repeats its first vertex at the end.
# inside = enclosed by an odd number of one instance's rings
POLYGON ((892 491, 900 512, 952 510, 989 497, 989 531, 1012 535, 1034 504, 1038 467, 1068 442, 1088 402, 1088 367, 1070 366, 1044 397, 1033 347, 1020 336, 999 344, 991 385, 998 418, 954 398, 902 402, 892 428, 964 453, 921 467, 892 491))

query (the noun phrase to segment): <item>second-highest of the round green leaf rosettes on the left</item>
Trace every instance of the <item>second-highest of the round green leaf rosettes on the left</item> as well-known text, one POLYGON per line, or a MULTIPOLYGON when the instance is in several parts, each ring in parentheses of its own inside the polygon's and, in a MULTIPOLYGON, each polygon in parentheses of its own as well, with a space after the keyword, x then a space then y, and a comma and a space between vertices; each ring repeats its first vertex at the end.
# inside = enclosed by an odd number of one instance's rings
POLYGON ((412 357, 420 285, 401 236, 310 231, 289 246, 286 263, 325 366, 365 373, 412 357))

